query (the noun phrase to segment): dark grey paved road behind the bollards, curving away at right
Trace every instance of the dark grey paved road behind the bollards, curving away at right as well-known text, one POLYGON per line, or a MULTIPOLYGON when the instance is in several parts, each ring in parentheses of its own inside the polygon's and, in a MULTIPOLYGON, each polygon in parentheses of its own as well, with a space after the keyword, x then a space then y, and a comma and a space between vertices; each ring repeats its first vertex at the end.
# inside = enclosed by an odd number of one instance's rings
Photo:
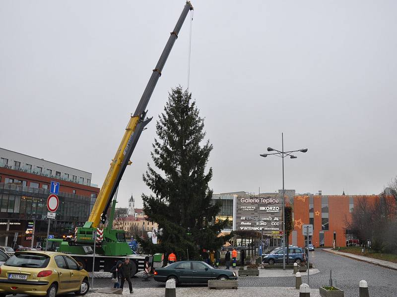
MULTIPOLYGON (((379 267, 373 264, 349 259, 340 255, 332 254, 321 249, 310 253, 316 268, 320 273, 310 276, 310 287, 318 289, 320 286, 328 285, 330 269, 332 278, 336 279, 337 287, 345 291, 345 297, 358 296, 358 284, 361 280, 368 282, 370 296, 396 297, 397 296, 397 271, 379 267)), ((307 276, 302 276, 302 281, 307 282, 307 276)), ((95 279, 94 287, 113 286, 110 279, 95 279)), ((132 280, 134 288, 165 287, 164 283, 158 283, 151 279, 142 282, 140 278, 132 280)), ((205 285, 181 285, 181 287, 203 287, 205 285)), ((240 277, 239 287, 294 287, 295 277, 240 277)))

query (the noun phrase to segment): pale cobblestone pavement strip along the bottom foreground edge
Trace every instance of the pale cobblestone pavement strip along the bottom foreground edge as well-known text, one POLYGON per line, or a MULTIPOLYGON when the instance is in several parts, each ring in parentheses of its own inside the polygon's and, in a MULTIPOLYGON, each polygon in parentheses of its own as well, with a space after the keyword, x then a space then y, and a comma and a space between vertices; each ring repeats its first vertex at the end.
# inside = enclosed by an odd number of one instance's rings
MULTIPOLYGON (((123 296, 139 297, 164 297, 164 288, 140 288, 134 289, 130 295, 128 289, 123 296)), ((88 293, 87 297, 109 297, 108 294, 88 293)), ((118 295, 114 295, 115 297, 118 295)), ((178 297, 298 297, 299 290, 280 287, 251 287, 238 289, 208 289, 206 287, 177 287, 178 297)), ((310 297, 320 297, 319 290, 311 290, 310 297)))

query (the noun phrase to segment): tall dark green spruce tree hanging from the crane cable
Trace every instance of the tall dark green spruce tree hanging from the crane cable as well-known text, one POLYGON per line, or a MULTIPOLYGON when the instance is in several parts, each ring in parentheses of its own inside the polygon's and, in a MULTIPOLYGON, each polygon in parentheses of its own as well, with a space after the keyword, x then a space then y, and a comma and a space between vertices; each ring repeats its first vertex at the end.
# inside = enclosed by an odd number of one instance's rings
POLYGON ((198 259, 203 248, 216 249, 229 237, 217 237, 227 221, 214 221, 219 204, 211 204, 206 171, 212 145, 204 141, 204 120, 199 116, 192 94, 181 86, 169 93, 164 112, 156 124, 151 157, 143 181, 154 196, 142 194, 144 213, 159 225, 158 242, 142 241, 146 252, 175 251, 178 258, 198 259))

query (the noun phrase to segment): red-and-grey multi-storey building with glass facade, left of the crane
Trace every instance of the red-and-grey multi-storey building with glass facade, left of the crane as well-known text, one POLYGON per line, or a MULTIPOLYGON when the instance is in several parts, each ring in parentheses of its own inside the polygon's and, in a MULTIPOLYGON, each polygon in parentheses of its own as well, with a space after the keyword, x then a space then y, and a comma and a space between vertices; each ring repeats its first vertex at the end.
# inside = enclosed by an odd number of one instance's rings
POLYGON ((51 181, 60 183, 59 208, 50 234, 62 238, 82 226, 99 193, 92 174, 0 148, 0 246, 35 246, 47 235, 51 181), (33 245, 32 245, 33 240, 33 245))

